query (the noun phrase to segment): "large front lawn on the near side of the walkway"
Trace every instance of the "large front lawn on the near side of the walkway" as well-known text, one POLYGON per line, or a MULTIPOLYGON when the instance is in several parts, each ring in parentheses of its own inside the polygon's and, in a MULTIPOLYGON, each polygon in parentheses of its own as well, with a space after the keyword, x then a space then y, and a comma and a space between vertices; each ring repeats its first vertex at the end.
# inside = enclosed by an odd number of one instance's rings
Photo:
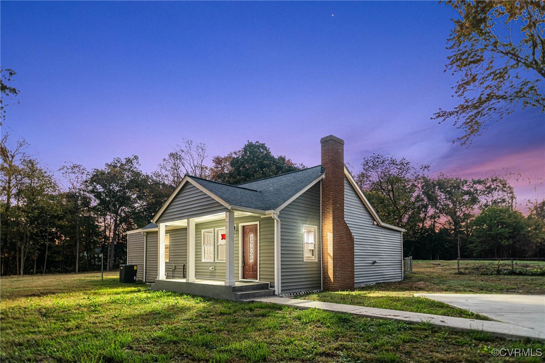
POLYGON ((0 360, 490 361, 541 348, 428 323, 236 303, 119 284, 117 273, 3 277, 0 360))

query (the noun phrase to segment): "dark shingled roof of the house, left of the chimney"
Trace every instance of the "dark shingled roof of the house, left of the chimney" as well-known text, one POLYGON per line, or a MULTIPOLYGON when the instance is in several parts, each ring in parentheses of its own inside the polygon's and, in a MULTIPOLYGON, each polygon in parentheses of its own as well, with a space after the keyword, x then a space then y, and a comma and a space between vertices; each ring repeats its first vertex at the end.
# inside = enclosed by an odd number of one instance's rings
POLYGON ((271 176, 237 186, 191 176, 202 187, 235 207, 268 211, 280 207, 324 173, 322 165, 271 176))

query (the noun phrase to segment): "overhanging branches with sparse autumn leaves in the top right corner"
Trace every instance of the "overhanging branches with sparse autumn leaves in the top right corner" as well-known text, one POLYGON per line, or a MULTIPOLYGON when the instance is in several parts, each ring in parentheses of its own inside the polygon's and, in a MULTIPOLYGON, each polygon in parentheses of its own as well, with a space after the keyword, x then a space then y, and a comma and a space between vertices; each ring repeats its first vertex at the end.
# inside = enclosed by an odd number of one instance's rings
POLYGON ((453 19, 445 72, 460 78, 453 87, 460 100, 432 119, 453 119, 462 145, 490 121, 511 114, 517 104, 545 112, 540 90, 545 78, 545 3, 542 1, 447 1, 453 19))

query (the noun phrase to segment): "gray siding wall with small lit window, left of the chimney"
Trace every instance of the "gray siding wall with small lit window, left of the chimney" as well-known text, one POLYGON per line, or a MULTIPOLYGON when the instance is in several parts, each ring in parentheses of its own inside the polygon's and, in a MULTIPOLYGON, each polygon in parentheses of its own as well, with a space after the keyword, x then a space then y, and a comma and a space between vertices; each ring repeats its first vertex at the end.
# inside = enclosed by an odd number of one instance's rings
POLYGON ((322 289, 320 182, 280 211, 282 293, 322 289), (316 226, 318 261, 303 261, 303 226, 316 226))

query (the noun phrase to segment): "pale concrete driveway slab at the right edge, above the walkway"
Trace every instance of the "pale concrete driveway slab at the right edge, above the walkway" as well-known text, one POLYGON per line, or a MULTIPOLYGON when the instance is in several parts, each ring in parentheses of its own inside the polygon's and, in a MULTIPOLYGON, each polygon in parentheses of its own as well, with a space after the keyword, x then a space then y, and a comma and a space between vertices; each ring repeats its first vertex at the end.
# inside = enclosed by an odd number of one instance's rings
POLYGON ((545 295, 414 294, 545 333, 545 295))

